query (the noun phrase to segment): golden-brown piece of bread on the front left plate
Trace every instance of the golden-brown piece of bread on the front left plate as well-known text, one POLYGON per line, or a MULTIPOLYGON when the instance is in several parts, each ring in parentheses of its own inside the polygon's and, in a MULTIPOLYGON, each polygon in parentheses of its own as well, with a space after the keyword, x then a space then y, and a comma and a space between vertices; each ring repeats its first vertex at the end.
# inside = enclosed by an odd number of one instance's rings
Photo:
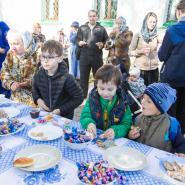
POLYGON ((33 165, 34 160, 29 157, 20 157, 13 162, 13 165, 18 168, 24 168, 33 165))

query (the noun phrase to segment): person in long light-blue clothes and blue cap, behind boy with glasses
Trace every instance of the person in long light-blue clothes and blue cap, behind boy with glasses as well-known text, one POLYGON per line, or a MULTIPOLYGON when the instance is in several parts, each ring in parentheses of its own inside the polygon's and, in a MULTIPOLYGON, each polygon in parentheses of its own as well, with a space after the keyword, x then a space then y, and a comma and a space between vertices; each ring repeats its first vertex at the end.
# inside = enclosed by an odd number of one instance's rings
POLYGON ((72 74, 77 80, 80 80, 80 67, 79 60, 77 59, 77 32, 79 28, 79 23, 77 21, 72 22, 71 32, 70 32, 70 56, 71 61, 69 65, 69 73, 72 74))

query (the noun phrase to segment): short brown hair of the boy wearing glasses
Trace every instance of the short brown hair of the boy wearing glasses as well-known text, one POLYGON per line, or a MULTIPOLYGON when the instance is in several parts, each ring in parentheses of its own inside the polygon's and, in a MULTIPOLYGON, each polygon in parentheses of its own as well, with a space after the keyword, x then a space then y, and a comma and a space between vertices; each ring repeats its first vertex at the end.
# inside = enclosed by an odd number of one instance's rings
POLYGON ((48 40, 41 47, 41 51, 48 52, 49 54, 56 53, 58 56, 62 56, 63 55, 63 46, 58 41, 48 40))

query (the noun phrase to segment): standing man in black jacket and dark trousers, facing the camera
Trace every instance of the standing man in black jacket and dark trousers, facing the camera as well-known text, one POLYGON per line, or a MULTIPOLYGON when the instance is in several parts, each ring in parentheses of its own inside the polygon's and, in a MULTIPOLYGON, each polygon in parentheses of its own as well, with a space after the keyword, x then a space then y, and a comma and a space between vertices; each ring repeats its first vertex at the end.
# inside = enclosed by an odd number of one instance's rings
POLYGON ((97 22, 96 10, 88 12, 88 22, 78 29, 77 44, 80 47, 80 84, 87 97, 89 75, 92 69, 93 76, 103 65, 102 49, 108 38, 107 31, 97 22))

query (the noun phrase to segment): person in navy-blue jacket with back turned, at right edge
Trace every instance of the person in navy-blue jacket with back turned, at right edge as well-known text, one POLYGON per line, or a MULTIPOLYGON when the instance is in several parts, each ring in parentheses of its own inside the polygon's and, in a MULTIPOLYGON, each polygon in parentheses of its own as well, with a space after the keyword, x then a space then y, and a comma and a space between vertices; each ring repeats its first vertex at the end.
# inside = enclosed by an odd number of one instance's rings
POLYGON ((185 134, 185 0, 177 4, 176 16, 178 22, 167 29, 158 56, 164 61, 161 81, 177 90, 177 101, 170 114, 180 121, 185 134))

